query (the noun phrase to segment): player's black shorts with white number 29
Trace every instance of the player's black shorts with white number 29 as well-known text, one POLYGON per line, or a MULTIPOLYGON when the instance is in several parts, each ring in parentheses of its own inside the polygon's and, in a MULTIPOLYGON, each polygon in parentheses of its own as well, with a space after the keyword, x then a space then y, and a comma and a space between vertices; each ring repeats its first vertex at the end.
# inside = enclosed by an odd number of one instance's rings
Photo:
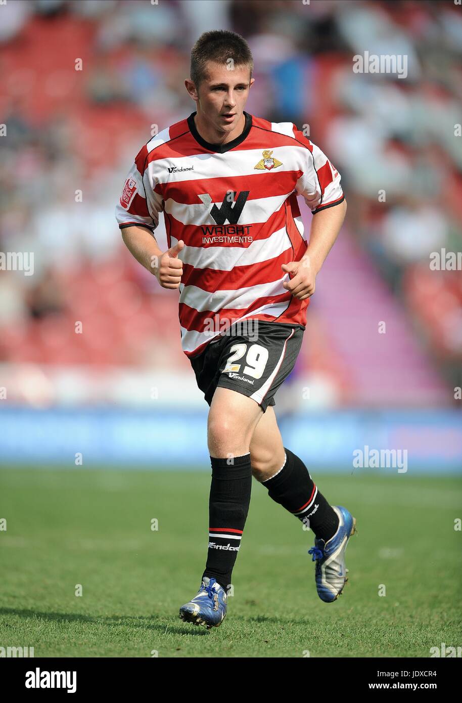
POLYGON ((274 395, 295 366, 304 331, 302 325, 258 321, 244 328, 238 322, 211 340, 190 359, 207 403, 220 386, 253 398, 263 412, 275 405, 274 395))

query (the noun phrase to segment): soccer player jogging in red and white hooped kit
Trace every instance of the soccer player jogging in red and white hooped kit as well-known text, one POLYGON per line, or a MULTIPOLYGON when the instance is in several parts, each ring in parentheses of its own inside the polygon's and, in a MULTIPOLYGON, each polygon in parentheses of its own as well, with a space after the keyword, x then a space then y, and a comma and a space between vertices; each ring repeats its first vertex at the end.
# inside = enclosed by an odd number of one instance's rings
POLYGON ((209 548, 197 595, 180 617, 207 628, 226 614, 252 475, 315 533, 319 598, 347 580, 355 518, 331 506, 283 446, 275 393, 301 348, 316 275, 345 217, 341 177, 291 122, 244 111, 253 59, 225 30, 205 32, 185 87, 196 111, 136 156, 117 205, 124 243, 163 288, 179 290, 183 351, 210 406, 209 548), (303 231, 297 195, 313 217, 303 231), (153 230, 164 212, 169 249, 153 230))

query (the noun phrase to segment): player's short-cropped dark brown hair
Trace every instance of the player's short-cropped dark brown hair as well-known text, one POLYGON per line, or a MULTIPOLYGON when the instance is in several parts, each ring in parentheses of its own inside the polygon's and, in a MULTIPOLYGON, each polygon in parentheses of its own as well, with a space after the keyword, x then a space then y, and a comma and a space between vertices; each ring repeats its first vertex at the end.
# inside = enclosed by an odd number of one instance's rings
POLYGON ((248 67, 252 77, 252 53, 244 37, 228 30, 211 30, 201 34, 191 51, 191 80, 196 88, 206 75, 207 61, 226 65, 230 59, 235 67, 248 67))

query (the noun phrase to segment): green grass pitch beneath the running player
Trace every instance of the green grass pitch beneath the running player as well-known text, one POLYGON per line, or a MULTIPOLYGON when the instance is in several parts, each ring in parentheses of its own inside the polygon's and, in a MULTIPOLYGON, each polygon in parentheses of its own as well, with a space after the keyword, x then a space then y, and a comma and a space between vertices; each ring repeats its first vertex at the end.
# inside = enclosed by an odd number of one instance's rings
POLYGON ((312 473, 357 518, 343 595, 319 600, 314 535, 253 481, 234 595, 208 632, 178 619, 204 567, 208 471, 1 469, 0 646, 35 657, 429 657, 460 645, 460 479, 312 473))

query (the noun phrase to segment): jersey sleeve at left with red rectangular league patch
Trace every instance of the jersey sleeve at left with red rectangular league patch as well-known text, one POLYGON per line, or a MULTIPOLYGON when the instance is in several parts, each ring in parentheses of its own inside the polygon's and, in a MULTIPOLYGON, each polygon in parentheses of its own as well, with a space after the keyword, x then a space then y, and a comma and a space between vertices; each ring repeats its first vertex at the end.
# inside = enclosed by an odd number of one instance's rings
POLYGON ((116 205, 115 216, 119 228, 138 225, 152 231, 157 227, 164 202, 154 191, 153 181, 152 171, 147 167, 147 148, 144 146, 136 155, 116 205))

